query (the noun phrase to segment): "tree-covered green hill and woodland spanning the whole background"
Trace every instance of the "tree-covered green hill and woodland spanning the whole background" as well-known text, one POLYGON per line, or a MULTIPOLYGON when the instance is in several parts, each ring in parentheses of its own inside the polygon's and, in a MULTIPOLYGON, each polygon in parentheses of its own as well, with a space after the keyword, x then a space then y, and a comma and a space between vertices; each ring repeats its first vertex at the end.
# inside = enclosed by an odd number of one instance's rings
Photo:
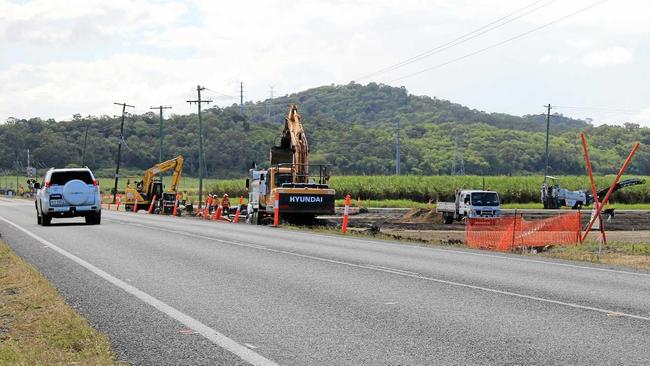
MULTIPOLYGON (((403 174, 449 174, 454 145, 467 174, 528 174, 544 168, 545 115, 517 117, 485 113, 446 100, 408 94, 404 88, 368 84, 323 86, 258 103, 211 108, 203 114, 207 175, 241 177, 252 161, 268 162, 290 103, 298 104, 310 141, 311 162, 332 164, 335 174, 392 174, 396 124, 401 125, 403 174)), ((198 117, 172 115, 165 121, 165 158, 182 154, 185 174, 197 175, 198 117)), ((79 165, 88 126, 86 164, 111 175, 117 156, 119 121, 108 116, 71 121, 11 119, 0 125, 0 170, 26 150, 37 167, 79 165)), ((593 127, 555 114, 551 118, 551 173, 583 174, 578 132, 590 136, 594 169, 613 173, 634 141, 644 143, 630 168, 650 174, 650 129, 638 125, 593 127)), ((142 170, 158 161, 158 116, 134 115, 125 124, 123 166, 142 170)), ((457 161, 458 165, 458 161, 457 161)), ((40 174, 40 173, 39 173, 40 174)))

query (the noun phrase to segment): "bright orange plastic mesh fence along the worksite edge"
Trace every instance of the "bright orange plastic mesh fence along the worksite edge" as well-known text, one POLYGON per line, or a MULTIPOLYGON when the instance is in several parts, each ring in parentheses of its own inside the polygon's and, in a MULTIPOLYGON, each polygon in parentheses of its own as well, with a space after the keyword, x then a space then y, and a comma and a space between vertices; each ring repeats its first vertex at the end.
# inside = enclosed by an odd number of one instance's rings
POLYGON ((465 241, 472 248, 502 252, 528 247, 578 244, 580 212, 528 221, 519 215, 468 219, 465 241))

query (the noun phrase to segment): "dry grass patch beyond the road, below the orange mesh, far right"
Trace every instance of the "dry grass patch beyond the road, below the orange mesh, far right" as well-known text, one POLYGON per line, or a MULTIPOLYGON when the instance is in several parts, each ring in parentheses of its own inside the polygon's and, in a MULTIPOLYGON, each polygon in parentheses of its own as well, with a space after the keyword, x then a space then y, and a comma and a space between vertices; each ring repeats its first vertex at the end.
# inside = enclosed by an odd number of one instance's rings
POLYGON ((650 243, 608 242, 598 255, 598 242, 553 247, 541 255, 550 258, 578 260, 591 263, 620 265, 650 270, 650 243))

